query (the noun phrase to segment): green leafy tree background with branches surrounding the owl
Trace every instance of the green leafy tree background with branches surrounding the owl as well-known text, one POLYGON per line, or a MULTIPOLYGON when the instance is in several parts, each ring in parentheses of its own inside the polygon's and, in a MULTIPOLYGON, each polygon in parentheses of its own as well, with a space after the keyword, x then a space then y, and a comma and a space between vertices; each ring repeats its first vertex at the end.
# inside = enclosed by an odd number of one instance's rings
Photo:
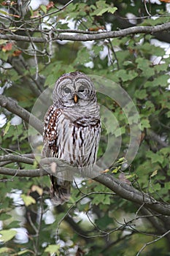
POLYGON ((1 255, 169 255, 169 7, 0 1, 1 255), (55 207, 42 121, 55 81, 75 70, 98 91, 100 175, 77 178, 55 207))

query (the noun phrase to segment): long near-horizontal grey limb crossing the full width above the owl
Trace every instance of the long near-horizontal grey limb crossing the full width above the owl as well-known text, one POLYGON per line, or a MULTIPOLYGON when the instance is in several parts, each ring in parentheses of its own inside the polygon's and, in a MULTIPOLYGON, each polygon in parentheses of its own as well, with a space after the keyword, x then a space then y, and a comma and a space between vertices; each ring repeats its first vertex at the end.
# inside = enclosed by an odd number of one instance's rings
MULTIPOLYGON (((60 30, 51 31, 53 37, 26 37, 20 36, 18 34, 0 34, 0 39, 24 41, 24 42, 47 42, 50 40, 69 40, 69 41, 92 41, 100 39, 108 39, 115 37, 125 37, 129 34, 152 34, 160 31, 166 31, 170 29, 170 22, 164 23, 157 26, 133 26, 128 29, 121 29, 119 31, 101 31, 100 33, 82 34, 82 32, 77 32, 75 34, 65 34, 61 33, 60 30)), ((41 31, 42 34, 46 34, 46 31, 41 31)), ((49 33, 50 35, 51 33, 49 33)))

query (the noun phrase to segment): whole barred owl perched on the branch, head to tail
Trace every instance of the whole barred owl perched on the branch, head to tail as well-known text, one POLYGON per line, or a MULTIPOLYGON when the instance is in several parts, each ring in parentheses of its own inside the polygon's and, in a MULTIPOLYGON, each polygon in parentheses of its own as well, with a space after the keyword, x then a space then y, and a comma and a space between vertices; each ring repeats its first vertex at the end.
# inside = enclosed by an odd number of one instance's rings
MULTIPOLYGON (((82 72, 62 75, 55 83, 53 105, 45 115, 43 157, 64 159, 75 167, 93 167, 100 132, 99 106, 90 78, 82 72)), ((66 170, 50 175, 55 205, 69 200, 72 182, 69 174, 66 170)))

